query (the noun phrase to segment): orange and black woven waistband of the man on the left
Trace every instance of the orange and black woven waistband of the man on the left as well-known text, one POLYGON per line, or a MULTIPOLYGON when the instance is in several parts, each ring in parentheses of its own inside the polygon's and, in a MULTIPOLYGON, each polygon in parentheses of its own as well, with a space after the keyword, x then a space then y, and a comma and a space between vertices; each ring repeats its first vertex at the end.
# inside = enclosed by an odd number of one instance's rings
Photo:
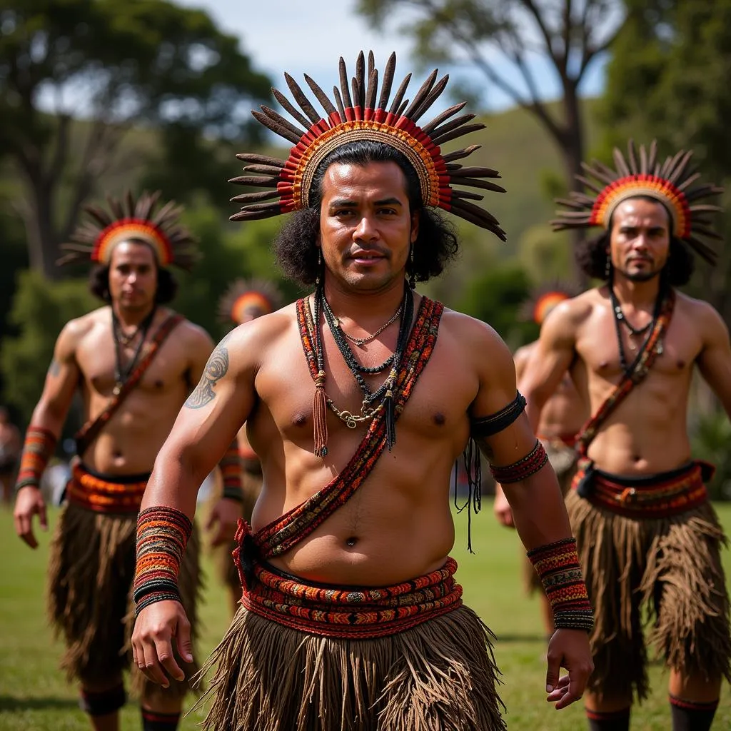
POLYGON ((72 466, 66 496, 69 503, 94 512, 137 513, 149 479, 148 473, 103 475, 77 462, 72 466))

